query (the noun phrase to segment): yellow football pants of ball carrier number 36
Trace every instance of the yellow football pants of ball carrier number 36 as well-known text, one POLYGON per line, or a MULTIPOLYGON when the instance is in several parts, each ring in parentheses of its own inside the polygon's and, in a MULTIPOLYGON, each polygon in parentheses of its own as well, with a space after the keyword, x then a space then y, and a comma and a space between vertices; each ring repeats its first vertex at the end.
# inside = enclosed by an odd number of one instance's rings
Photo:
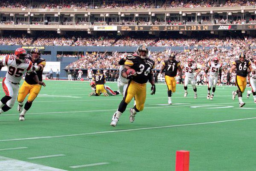
POLYGON ((142 111, 146 101, 146 83, 139 84, 131 81, 128 84, 124 97, 125 103, 129 104, 134 97, 136 99, 136 108, 142 111))

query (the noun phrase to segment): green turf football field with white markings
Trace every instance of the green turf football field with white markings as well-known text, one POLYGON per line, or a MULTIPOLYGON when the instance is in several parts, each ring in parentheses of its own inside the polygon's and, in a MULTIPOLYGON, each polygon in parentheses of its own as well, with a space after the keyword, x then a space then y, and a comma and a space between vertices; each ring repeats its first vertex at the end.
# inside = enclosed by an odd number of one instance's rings
POLYGON ((25 121, 18 120, 17 104, 0 115, 0 170, 174 171, 176 151, 187 150, 190 171, 256 171, 256 104, 244 94, 239 108, 231 96, 236 87, 217 87, 207 100, 206 86, 198 86, 194 99, 190 85, 186 98, 177 85, 167 105, 166 85, 157 84, 153 96, 148 85, 134 123, 126 110, 111 127, 121 95, 88 97, 89 82, 45 83, 25 121))

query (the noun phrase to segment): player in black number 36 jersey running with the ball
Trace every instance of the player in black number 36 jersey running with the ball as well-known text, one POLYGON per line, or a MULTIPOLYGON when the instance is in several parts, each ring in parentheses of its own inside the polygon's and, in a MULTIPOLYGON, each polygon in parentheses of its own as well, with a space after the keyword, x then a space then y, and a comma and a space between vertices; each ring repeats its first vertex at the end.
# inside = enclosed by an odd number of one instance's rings
POLYGON ((125 60, 125 68, 122 70, 122 76, 129 80, 125 96, 117 111, 113 114, 110 125, 116 126, 120 116, 125 111, 127 105, 135 97, 136 105, 130 109, 130 122, 133 123, 137 112, 142 111, 146 100, 146 83, 151 83, 151 95, 155 94, 156 88, 154 84, 153 71, 154 61, 148 57, 148 48, 140 45, 137 48, 137 53, 128 55, 125 60), (127 74, 126 71, 133 68, 136 72, 134 74, 127 74))

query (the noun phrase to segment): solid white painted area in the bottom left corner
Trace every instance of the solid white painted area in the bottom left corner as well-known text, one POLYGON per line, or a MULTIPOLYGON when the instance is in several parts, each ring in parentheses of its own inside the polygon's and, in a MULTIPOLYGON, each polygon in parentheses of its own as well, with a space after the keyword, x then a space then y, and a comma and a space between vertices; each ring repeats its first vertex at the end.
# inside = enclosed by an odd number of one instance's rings
POLYGON ((65 171, 58 168, 52 168, 45 165, 38 165, 31 162, 24 162, 7 157, 0 156, 1 171, 65 171))

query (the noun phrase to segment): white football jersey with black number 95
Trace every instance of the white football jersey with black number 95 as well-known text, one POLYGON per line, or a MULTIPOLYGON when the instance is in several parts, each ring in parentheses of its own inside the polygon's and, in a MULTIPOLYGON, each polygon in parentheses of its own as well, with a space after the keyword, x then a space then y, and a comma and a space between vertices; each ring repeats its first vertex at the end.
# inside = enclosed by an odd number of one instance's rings
POLYGON ((3 58, 3 66, 7 66, 6 79, 12 83, 20 83, 25 72, 32 72, 32 62, 26 59, 23 63, 17 65, 15 56, 6 55, 3 58))

